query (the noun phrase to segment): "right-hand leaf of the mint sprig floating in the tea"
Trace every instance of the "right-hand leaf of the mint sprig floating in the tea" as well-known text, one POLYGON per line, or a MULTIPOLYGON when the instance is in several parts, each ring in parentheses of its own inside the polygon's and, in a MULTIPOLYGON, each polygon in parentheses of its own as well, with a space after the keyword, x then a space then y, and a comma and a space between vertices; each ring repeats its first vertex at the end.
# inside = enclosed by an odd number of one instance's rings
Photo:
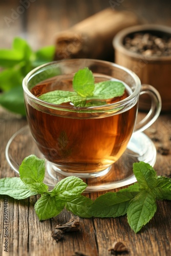
POLYGON ((112 99, 122 96, 124 94, 125 87, 122 82, 118 81, 103 81, 95 83, 95 89, 93 96, 88 99, 112 99))

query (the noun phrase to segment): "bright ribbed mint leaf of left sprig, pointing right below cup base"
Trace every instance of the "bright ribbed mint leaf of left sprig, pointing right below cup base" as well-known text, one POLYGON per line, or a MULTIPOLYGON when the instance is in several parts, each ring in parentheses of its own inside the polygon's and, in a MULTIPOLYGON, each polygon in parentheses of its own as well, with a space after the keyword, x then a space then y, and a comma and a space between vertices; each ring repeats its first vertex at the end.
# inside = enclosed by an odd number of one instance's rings
POLYGON ((81 179, 70 176, 59 181, 51 191, 52 196, 57 196, 58 199, 70 202, 76 197, 79 197, 81 193, 86 189, 87 184, 81 179))

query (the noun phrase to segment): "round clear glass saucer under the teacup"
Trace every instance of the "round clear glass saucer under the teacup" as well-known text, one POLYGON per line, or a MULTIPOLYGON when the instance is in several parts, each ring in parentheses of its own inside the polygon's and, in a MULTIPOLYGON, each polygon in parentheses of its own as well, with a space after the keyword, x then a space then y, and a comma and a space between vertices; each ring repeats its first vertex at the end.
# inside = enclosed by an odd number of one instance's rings
MULTIPOLYGON (((19 165, 29 155, 44 158, 39 152, 27 125, 16 132, 9 140, 6 146, 6 158, 11 168, 19 174, 19 165)), ((153 141, 144 133, 134 133, 126 151, 112 165, 108 174, 101 177, 83 179, 88 184, 85 192, 111 190, 136 182, 133 174, 133 163, 143 161, 154 166, 156 155, 156 147, 153 141)), ((62 175, 49 168, 49 162, 46 161, 44 182, 49 186, 49 189, 52 189, 62 178, 64 178, 62 175)))

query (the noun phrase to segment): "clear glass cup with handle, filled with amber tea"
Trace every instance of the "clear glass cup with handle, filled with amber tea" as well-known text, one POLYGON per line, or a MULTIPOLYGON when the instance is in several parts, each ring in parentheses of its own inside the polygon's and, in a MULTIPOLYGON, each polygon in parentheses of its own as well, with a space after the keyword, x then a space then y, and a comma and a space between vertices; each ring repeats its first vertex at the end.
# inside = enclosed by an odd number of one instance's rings
POLYGON ((68 59, 47 63, 32 70, 23 81, 27 120, 48 168, 64 176, 92 178, 105 175, 122 156, 133 132, 152 125, 161 111, 158 91, 141 85, 131 70, 94 59, 68 59), (54 90, 69 91, 79 70, 88 67, 95 82, 121 80, 127 96, 107 104, 74 107, 49 103, 37 96, 54 90), (141 94, 152 99, 145 118, 136 122, 141 94), (136 129, 135 129, 136 125, 136 129))

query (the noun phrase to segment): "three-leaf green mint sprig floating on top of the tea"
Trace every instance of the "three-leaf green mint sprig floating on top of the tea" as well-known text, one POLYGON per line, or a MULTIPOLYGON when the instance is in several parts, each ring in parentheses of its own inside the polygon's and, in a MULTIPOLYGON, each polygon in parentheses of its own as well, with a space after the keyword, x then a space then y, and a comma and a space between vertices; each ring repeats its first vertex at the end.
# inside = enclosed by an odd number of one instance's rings
POLYGON ((106 104, 106 100, 122 96, 125 87, 122 82, 112 80, 95 83, 92 71, 86 67, 75 73, 73 90, 55 90, 38 98, 57 105, 71 102, 75 107, 99 106, 106 104))

